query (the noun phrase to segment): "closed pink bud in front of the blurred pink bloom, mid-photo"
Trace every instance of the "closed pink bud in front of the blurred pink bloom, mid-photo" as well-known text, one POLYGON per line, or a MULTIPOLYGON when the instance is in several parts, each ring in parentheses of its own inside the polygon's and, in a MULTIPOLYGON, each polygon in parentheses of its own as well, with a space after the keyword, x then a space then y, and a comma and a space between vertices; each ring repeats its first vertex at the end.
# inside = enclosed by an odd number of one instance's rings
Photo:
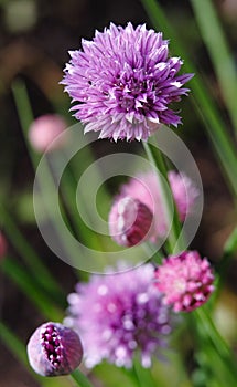
POLYGON ((138 244, 148 236, 152 218, 151 210, 141 201, 131 197, 118 199, 109 213, 110 236, 121 245, 138 244))

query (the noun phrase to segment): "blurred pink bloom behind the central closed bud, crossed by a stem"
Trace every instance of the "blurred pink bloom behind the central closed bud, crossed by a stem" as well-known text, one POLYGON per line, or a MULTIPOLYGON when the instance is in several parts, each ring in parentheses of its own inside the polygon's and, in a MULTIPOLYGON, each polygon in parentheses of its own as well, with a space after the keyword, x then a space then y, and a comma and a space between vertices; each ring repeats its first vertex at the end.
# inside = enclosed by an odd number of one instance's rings
MULTIPOLYGON (((168 178, 180 220, 184 221, 185 217, 192 212, 192 208, 195 203, 195 199, 198 196, 198 191, 193 181, 184 174, 170 171, 168 178)), ((154 242, 157 239, 162 238, 168 230, 168 224, 162 207, 161 191, 157 174, 154 171, 148 171, 134 176, 127 184, 121 186, 119 195, 115 198, 115 203, 109 213, 109 233, 119 244, 122 243, 120 243, 119 237, 116 238, 115 236, 115 206, 126 197, 130 197, 133 200, 139 200, 139 202, 147 206, 147 208, 153 215, 152 228, 146 236, 146 239, 150 239, 154 242)), ((137 223, 139 217, 137 219, 137 223)))

